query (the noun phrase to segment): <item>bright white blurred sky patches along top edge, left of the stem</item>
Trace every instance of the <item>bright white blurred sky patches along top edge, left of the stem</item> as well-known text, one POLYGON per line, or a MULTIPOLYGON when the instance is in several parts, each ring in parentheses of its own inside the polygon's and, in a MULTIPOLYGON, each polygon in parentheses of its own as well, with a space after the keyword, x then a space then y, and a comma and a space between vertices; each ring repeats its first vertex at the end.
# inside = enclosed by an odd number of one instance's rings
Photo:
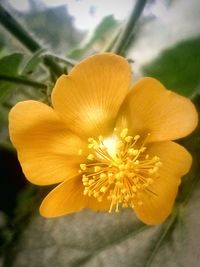
MULTIPOLYGON (((28 0, 7 0, 14 8, 25 11, 28 0)), ((70 15, 75 18, 75 27, 81 30, 93 30, 103 17, 113 14, 123 20, 130 13, 135 0, 43 0, 48 6, 66 5, 70 15)))

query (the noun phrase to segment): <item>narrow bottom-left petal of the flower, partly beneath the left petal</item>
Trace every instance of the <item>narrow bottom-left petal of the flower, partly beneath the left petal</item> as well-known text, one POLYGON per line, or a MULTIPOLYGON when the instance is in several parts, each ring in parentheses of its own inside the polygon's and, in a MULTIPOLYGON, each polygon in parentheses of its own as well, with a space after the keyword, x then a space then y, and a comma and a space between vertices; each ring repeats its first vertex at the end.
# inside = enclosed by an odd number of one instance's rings
POLYGON ((106 202, 97 202, 93 197, 84 196, 83 191, 80 176, 64 181, 43 200, 40 206, 41 215, 50 218, 77 212, 83 208, 95 211, 107 209, 106 202))

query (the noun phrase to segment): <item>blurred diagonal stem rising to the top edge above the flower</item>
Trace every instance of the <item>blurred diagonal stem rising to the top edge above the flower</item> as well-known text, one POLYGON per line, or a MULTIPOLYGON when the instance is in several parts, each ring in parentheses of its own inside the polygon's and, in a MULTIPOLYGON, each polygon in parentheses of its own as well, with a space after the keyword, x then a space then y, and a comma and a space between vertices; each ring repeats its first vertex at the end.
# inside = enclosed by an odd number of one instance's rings
POLYGON ((113 48, 113 52, 115 52, 116 54, 124 55, 127 43, 129 43, 129 39, 133 35, 135 25, 140 18, 147 1, 148 0, 137 0, 136 5, 134 6, 130 18, 125 26, 125 29, 119 37, 116 46, 113 48))

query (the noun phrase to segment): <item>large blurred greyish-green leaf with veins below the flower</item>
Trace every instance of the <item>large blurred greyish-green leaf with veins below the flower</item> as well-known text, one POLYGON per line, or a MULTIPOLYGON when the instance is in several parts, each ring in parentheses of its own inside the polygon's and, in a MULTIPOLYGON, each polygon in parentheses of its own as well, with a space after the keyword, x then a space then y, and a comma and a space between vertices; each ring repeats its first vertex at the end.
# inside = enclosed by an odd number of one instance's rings
POLYGON ((119 214, 85 210, 57 219, 36 213, 28 226, 21 221, 21 236, 7 250, 4 266, 198 267, 199 129, 182 143, 194 156, 193 169, 183 179, 177 205, 164 224, 143 225, 130 209, 119 214))

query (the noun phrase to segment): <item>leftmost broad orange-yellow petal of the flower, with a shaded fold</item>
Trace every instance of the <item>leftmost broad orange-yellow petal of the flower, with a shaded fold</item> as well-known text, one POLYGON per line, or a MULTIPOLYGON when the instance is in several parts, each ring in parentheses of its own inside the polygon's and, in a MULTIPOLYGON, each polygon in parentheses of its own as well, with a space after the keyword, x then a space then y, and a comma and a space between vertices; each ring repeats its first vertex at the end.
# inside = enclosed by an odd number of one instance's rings
POLYGON ((9 114, 9 131, 23 172, 32 183, 58 183, 77 174, 78 149, 83 144, 49 106, 37 101, 18 103, 9 114))

